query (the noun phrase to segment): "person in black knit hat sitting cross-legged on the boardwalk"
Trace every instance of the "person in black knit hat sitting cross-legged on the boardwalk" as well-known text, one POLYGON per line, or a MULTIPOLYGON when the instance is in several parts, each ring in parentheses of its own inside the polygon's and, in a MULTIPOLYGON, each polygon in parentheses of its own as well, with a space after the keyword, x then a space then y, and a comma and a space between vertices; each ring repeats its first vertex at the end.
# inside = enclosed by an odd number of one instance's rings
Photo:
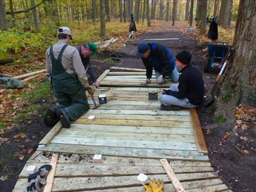
POLYGON ((179 85, 172 84, 160 96, 162 110, 181 110, 195 108, 204 98, 204 80, 202 73, 190 64, 192 55, 183 50, 176 55, 176 66, 182 68, 179 85))

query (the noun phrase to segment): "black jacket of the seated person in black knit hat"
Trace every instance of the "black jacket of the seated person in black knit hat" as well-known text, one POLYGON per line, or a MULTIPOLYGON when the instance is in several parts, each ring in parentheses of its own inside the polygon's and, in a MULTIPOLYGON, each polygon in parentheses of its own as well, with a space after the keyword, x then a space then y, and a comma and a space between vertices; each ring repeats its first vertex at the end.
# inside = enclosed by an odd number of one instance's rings
POLYGON ((168 95, 178 99, 188 98, 192 105, 200 105, 204 98, 204 80, 202 73, 191 64, 185 66, 179 77, 178 92, 168 90, 168 95))

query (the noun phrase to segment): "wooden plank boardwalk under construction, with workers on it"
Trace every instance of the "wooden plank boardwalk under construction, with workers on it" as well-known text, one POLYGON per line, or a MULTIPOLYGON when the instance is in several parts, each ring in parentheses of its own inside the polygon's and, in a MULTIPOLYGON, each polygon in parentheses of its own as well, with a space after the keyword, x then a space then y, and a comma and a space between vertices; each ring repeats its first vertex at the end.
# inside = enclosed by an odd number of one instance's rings
MULTIPOLYGON (((136 182, 139 173, 163 179, 163 192, 175 192, 161 158, 170 162, 186 192, 231 192, 209 163, 196 110, 160 110, 159 100, 148 100, 148 91, 160 95, 172 82, 142 86, 146 76, 141 73, 106 70, 94 97, 111 90, 107 104, 90 109, 69 129, 56 124, 40 142, 46 146, 28 160, 14 192, 26 192, 28 166, 50 164, 55 152, 53 192, 145 192, 136 182), (88 121, 90 115, 96 120, 88 121), (94 154, 102 154, 102 162, 93 162, 94 154)), ((90 96, 88 102, 93 106, 90 96)))

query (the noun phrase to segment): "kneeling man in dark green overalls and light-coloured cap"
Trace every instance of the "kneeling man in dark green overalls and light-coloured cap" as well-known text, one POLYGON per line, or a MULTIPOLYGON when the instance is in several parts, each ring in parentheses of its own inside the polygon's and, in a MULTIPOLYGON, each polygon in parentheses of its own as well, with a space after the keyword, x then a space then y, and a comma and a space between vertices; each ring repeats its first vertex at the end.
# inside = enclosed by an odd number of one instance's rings
POLYGON ((69 28, 59 28, 58 42, 46 51, 46 75, 52 78, 58 102, 46 112, 44 123, 48 127, 60 120, 64 128, 69 128, 70 122, 90 108, 84 88, 93 93, 93 87, 88 84, 78 50, 67 45, 72 40, 71 35, 69 28))

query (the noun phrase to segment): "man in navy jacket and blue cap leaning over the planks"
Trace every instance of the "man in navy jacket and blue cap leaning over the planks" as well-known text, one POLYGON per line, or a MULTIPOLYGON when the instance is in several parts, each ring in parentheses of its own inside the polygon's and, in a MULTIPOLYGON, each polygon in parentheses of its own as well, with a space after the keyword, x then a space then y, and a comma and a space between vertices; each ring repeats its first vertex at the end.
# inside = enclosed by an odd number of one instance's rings
POLYGON ((168 48, 160 43, 142 43, 138 46, 136 56, 142 58, 146 68, 146 83, 150 83, 153 67, 156 74, 156 82, 163 84, 165 76, 169 74, 172 82, 178 82, 179 74, 175 66, 175 61, 168 48))

